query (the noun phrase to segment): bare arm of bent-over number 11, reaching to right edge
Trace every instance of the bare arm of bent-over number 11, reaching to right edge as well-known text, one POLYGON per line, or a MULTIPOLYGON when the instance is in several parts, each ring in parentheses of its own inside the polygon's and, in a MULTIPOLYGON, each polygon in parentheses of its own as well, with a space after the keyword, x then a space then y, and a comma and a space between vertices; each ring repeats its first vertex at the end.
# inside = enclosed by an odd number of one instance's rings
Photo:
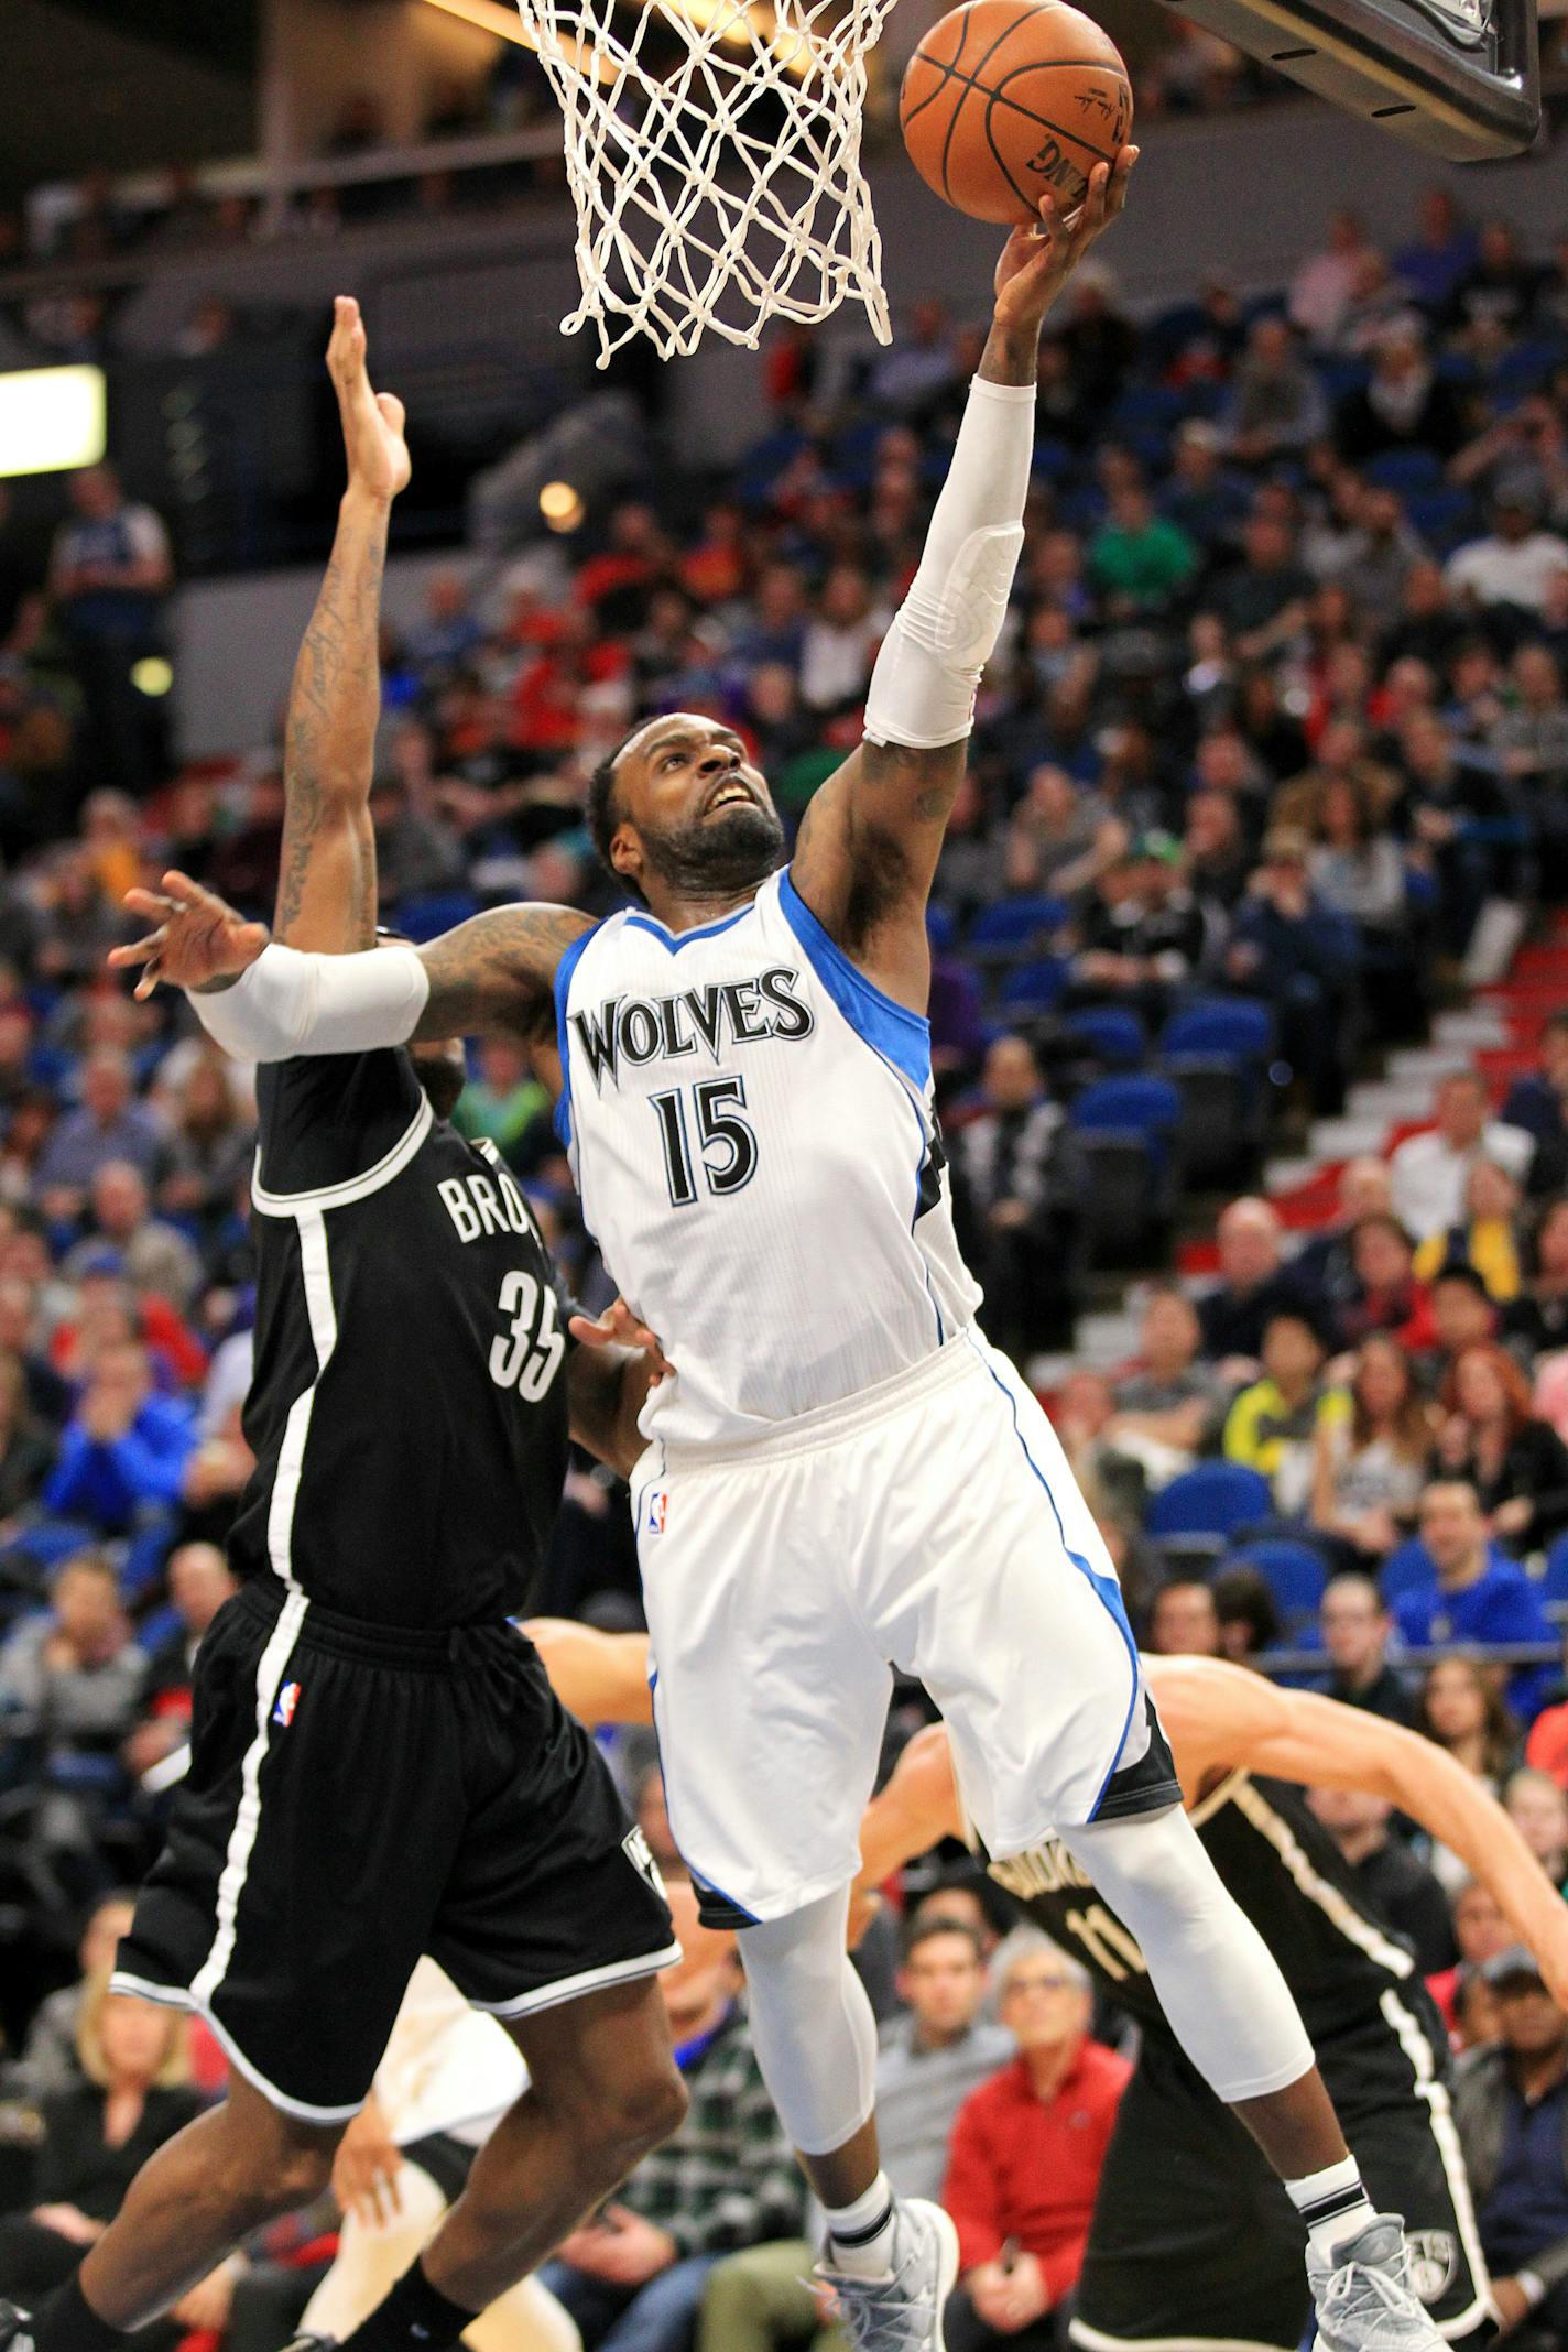
POLYGON ((1443 1748, 1218 1658, 1150 1658, 1147 1677, 1185 1790, 1244 1769, 1387 1797, 1493 1891, 1554 1997, 1568 2002, 1568 1903, 1502 1806, 1443 1748))

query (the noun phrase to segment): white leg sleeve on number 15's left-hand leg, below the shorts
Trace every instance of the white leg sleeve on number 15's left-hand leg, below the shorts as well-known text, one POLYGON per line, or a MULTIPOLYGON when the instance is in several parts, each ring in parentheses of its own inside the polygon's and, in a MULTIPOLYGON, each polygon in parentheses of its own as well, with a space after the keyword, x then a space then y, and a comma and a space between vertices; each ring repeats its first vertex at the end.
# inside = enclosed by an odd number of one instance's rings
POLYGON ((844 1936, 849 1886, 741 1929, 757 2065, 806 2157, 853 2140, 877 2105, 877 2020, 844 1936))

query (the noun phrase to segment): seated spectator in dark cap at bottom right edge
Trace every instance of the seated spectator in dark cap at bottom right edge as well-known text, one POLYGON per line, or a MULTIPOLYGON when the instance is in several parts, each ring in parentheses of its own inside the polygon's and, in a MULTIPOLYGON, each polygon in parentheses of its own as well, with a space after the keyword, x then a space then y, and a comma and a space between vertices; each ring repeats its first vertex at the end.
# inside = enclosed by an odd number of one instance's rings
POLYGON ((1493 2300, 1514 2343, 1568 2336, 1568 2016, 1523 1945, 1481 1969, 1500 2039, 1474 2051, 1455 2119, 1493 2300))

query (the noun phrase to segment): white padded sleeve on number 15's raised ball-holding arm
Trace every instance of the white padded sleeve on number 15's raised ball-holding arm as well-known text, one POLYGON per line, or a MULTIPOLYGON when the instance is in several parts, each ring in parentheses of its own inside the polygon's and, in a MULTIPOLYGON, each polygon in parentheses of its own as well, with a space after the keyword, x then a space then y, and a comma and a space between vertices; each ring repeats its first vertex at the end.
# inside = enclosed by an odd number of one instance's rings
POLYGON ((872 670, 872 743, 938 750, 969 734, 1018 569, 1032 459, 1034 386, 976 376, 919 572, 872 670))

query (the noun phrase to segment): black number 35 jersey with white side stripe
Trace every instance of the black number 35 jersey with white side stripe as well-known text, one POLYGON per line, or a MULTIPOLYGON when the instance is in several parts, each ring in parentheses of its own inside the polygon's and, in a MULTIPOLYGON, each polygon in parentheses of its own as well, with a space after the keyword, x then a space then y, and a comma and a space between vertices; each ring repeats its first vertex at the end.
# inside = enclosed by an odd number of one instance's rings
POLYGON ((404 1051, 259 1073, 256 1470, 230 1555, 383 1625, 529 1606, 567 1477, 567 1301, 404 1051))

